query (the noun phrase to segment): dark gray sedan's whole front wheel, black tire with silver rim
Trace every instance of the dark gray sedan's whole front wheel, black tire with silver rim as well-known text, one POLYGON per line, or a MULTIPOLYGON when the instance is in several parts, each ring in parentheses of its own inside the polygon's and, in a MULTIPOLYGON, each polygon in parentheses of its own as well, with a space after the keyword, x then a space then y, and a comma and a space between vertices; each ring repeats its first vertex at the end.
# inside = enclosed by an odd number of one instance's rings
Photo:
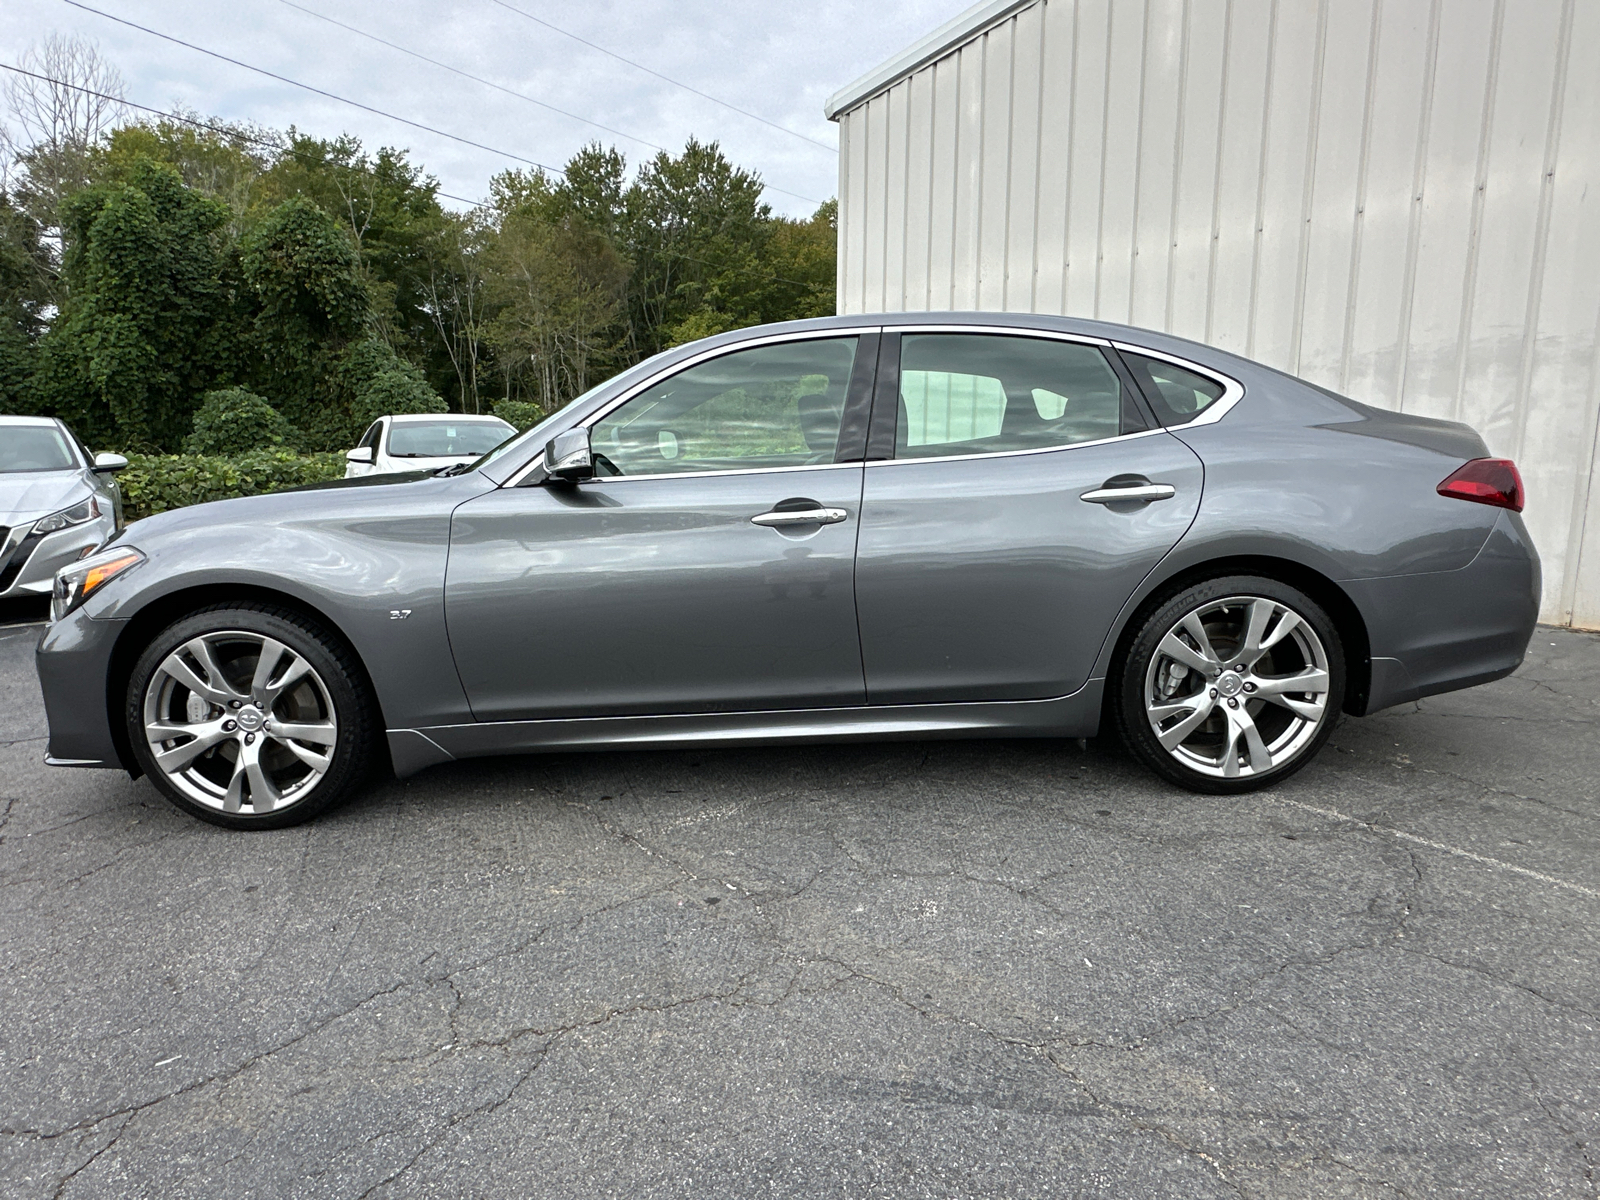
POLYGON ((254 603, 202 608, 157 634, 123 707, 150 782, 227 829, 298 826, 347 798, 379 730, 354 653, 301 613, 254 603))

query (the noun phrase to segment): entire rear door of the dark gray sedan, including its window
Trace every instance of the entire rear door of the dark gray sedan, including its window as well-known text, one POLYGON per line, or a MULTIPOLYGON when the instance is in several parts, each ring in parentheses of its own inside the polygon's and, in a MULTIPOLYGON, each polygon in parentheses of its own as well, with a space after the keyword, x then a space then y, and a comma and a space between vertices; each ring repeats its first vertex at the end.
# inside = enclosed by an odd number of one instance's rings
POLYGON ((1200 459, 1150 427, 1109 346, 926 330, 896 355, 893 341, 856 555, 867 701, 1077 691, 1194 522, 1200 459))

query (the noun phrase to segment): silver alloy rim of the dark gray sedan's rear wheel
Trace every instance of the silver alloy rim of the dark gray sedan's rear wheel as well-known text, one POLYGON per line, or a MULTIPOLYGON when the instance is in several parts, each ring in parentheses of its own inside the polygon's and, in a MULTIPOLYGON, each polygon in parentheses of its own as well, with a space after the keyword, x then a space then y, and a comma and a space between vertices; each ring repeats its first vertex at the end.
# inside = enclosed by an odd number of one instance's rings
POLYGON ((1282 600, 1230 595, 1184 614, 1157 643, 1144 709, 1162 749, 1222 779, 1299 757, 1328 720, 1328 653, 1282 600))

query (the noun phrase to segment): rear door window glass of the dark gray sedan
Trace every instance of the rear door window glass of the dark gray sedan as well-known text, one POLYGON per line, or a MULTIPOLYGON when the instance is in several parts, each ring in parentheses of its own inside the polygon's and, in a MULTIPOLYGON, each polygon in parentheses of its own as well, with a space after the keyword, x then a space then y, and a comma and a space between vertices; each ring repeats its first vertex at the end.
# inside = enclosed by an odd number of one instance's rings
POLYGON ((1142 427, 1106 355, 1078 342, 906 334, 899 390, 896 458, 1045 450, 1142 427))

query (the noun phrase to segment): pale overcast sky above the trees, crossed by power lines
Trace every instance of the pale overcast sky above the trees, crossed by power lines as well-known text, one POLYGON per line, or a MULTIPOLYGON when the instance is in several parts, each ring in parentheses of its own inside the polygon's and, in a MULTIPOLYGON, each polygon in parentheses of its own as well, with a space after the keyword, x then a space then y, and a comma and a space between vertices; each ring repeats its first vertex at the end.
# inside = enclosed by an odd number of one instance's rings
POLYGON ((968 6, 966 0, 293 0, 298 8, 290 0, 85 3, 501 154, 314 96, 64 0, 3 0, 0 61, 16 64, 51 32, 77 34, 93 38, 122 70, 130 101, 160 109, 182 104, 206 115, 294 125, 320 136, 349 131, 370 147, 403 146, 445 192, 470 198, 486 194, 496 171, 525 165, 507 155, 558 168, 598 138, 637 163, 656 146, 677 150, 690 136, 715 139, 733 162, 760 171, 766 200, 789 214, 810 213, 837 190, 837 155, 824 147, 837 146, 838 134, 822 117, 822 101, 968 6), (824 146, 662 82, 512 8, 824 146), (304 10, 632 136, 469 82, 304 10))

